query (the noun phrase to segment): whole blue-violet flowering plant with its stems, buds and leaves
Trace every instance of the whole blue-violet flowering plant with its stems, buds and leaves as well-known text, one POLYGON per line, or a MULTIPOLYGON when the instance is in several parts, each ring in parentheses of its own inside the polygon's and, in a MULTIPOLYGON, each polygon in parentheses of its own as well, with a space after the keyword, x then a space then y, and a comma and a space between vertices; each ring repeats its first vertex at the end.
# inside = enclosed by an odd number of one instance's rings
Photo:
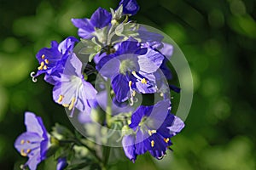
POLYGON ((136 0, 122 0, 110 12, 97 8, 90 19, 72 19, 80 39, 53 41, 36 54, 33 82, 44 75, 79 133, 59 124, 48 133, 40 117, 26 112, 26 133, 15 141, 28 157, 21 168, 36 169, 53 156, 56 169, 106 169, 110 146, 122 147, 133 162, 147 151, 162 159, 171 150, 184 127, 172 114, 170 90, 180 91, 170 84, 167 66, 174 49, 160 33, 130 20, 138 10, 136 0), (154 99, 146 104, 147 95, 154 99))

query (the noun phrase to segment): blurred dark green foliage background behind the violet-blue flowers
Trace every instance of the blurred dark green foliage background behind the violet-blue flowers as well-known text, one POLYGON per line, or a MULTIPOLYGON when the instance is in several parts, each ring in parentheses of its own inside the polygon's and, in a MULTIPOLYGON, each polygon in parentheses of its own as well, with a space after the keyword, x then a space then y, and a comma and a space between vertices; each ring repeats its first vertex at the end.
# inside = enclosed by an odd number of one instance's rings
MULTIPOLYGON (((255 0, 137 0, 133 17, 166 32, 183 50, 193 73, 195 94, 174 152, 162 161, 139 156, 113 169, 256 169, 256 2, 255 0)), ((25 130, 24 112, 73 128, 55 105, 43 77, 35 84, 35 54, 50 41, 77 35, 71 18, 90 17, 117 0, 0 0, 0 169, 19 169, 26 158, 13 144, 25 130)), ((76 36, 77 37, 77 36, 76 36)), ((45 163, 41 168, 49 169, 45 163)), ((52 167, 55 169, 55 167, 52 167)))

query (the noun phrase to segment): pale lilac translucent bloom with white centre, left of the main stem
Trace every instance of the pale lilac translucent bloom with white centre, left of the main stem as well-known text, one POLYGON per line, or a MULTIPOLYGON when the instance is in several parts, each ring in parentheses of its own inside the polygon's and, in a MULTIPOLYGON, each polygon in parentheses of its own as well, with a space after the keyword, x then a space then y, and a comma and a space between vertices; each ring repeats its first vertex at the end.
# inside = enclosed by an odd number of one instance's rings
POLYGON ((56 103, 67 107, 73 116, 74 108, 79 111, 89 110, 89 100, 96 99, 96 93, 90 82, 84 80, 82 62, 76 54, 70 54, 61 79, 53 89, 53 99, 56 103))

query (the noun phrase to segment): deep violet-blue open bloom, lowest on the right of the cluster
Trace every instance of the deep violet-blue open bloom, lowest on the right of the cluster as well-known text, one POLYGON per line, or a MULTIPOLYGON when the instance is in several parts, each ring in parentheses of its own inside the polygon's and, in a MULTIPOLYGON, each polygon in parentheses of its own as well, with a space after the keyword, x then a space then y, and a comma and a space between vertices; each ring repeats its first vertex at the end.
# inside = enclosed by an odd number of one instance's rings
POLYGON ((135 161, 137 155, 147 151, 157 159, 165 156, 172 145, 171 138, 183 129, 184 123, 170 113, 170 101, 162 100, 155 105, 141 105, 132 114, 129 126, 134 133, 125 135, 122 144, 125 155, 135 161))

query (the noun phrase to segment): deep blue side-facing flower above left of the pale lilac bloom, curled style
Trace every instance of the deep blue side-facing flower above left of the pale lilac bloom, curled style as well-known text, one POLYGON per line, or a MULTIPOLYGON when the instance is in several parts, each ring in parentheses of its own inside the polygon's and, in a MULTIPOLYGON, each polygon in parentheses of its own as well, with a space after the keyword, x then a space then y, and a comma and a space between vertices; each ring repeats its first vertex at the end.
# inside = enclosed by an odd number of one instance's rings
POLYGON ((75 42, 78 42, 75 37, 67 37, 60 44, 52 41, 51 48, 40 49, 36 55, 39 62, 38 72, 33 77, 45 74, 44 80, 46 82, 53 85, 58 82, 66 60, 70 53, 73 52, 75 42))

